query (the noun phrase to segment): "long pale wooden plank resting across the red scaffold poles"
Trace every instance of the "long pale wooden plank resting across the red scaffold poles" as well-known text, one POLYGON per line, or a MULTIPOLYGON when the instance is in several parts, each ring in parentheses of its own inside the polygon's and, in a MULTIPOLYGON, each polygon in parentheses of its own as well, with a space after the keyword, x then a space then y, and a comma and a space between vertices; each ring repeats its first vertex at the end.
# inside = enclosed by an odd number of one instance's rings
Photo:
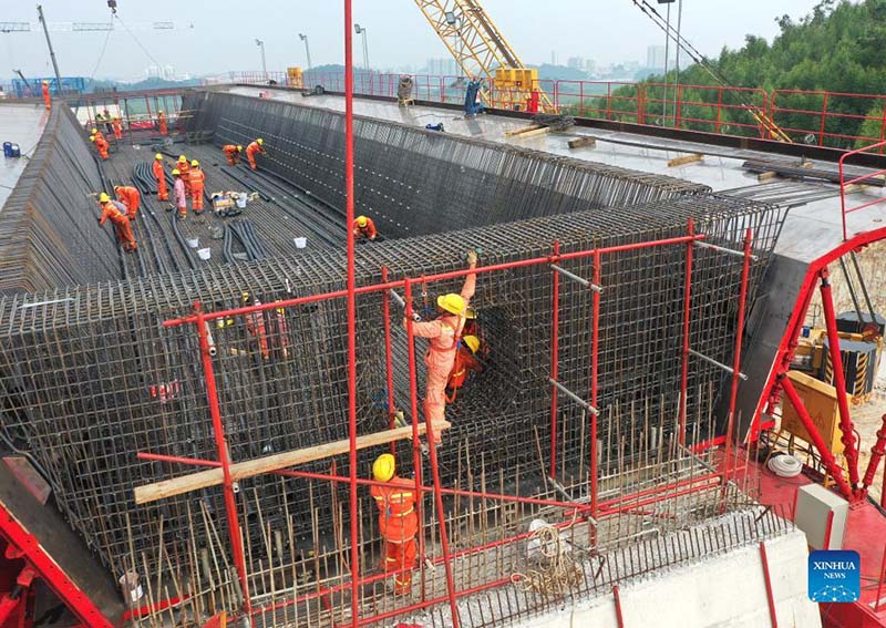
MULTIPOLYGON (((439 425, 434 425, 434 429, 437 432, 442 432, 443 430, 449 430, 451 426, 450 423, 443 421, 439 425)), ((424 435, 426 431, 427 425, 425 423, 419 423, 419 435, 424 435)), ((357 449, 364 450, 410 437, 412 437, 412 425, 406 425, 405 428, 358 436, 357 449)), ((306 462, 313 462, 316 460, 348 453, 349 451, 350 441, 344 439, 332 443, 306 447, 303 450, 284 452, 247 462, 237 462, 230 465, 230 477, 235 481, 245 480, 247 477, 261 475, 262 473, 270 473, 289 466, 305 464, 306 462)), ((189 475, 173 477, 172 480, 163 480, 153 484, 136 486, 134 491, 135 503, 140 505, 148 504, 157 500, 184 495, 185 493, 192 493, 209 486, 220 486, 224 481, 224 472, 220 467, 199 471, 189 475)))

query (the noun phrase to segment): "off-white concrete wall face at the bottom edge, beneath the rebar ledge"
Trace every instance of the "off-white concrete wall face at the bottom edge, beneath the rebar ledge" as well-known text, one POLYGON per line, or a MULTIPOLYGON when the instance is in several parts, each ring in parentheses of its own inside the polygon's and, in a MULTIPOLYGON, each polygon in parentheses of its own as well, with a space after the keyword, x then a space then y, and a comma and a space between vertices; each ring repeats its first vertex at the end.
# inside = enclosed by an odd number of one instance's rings
MULTIPOLYGON (((766 542, 779 626, 818 628, 818 605, 806 596, 806 537, 800 531, 766 542)), ((764 628, 772 626, 760 546, 619 587, 627 628, 764 628)), ((553 610, 521 628, 618 628, 611 595, 553 610)))

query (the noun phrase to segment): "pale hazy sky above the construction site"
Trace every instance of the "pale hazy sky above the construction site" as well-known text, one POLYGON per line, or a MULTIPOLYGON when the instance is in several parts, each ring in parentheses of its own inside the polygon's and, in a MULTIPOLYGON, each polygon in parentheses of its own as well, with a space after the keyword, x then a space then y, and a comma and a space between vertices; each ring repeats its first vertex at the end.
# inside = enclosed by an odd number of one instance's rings
MULTIPOLYGON (((725 44, 740 47, 745 33, 771 38, 774 19, 807 13, 818 0, 684 0, 683 35, 712 55, 725 44)), ((663 33, 631 0, 482 0, 483 6, 526 63, 585 56, 598 63, 646 60, 648 45, 663 44, 663 33)), ((31 32, 0 33, 0 76, 20 68, 25 75, 51 74, 49 53, 33 2, 3 0, 0 20, 31 22, 31 32)), ((209 74, 258 70, 255 38, 265 40, 268 70, 306 65, 299 32, 309 35, 315 65, 343 58, 342 6, 339 0, 117 0, 119 13, 135 38, 120 24, 104 32, 51 33, 63 75, 137 80, 157 63, 176 73, 209 74), (152 21, 172 20, 177 29, 156 31, 152 21), (183 28, 193 24, 193 29, 183 28), (97 68, 96 68, 97 64, 97 68)), ((370 64, 393 68, 424 65, 446 56, 413 0, 353 0, 354 21, 367 28, 370 64)), ((676 4, 672 11, 676 24, 676 4)), ((47 21, 106 22, 105 0, 43 0, 47 21)), ((663 10, 663 6, 662 6, 663 10)), ((360 40, 354 47, 360 59, 360 40)))

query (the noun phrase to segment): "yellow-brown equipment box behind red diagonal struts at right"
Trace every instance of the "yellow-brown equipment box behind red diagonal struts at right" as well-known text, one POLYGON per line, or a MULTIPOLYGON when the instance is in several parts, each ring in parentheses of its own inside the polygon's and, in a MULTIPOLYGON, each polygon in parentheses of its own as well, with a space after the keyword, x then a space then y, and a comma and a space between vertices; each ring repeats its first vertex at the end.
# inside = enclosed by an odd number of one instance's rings
MULTIPOLYGON (((812 423, 817 428, 818 433, 822 435, 825 444, 832 453, 838 454, 843 452, 843 443, 841 437, 843 432, 839 430, 839 409, 837 408, 837 391, 831 384, 826 384, 821 380, 802 373, 800 371, 789 371, 787 377, 791 378, 791 383, 794 384, 797 394, 803 400, 806 410, 810 413, 812 423)), ((847 402, 851 401, 846 395, 847 402)), ((782 430, 803 439, 807 443, 812 443, 806 428, 794 411, 791 402, 783 397, 782 401, 782 430)))

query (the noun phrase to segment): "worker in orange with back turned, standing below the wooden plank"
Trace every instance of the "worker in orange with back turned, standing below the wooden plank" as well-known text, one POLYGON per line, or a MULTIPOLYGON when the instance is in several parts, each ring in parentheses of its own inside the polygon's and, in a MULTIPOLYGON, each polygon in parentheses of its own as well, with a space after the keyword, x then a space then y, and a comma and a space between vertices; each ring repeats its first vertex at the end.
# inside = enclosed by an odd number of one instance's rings
POLYGON ((415 513, 415 483, 398 477, 394 456, 381 454, 372 463, 372 477, 384 486, 370 487, 379 507, 379 531, 384 538, 384 573, 394 574, 394 593, 408 594, 415 567, 415 534, 419 516, 415 513))

